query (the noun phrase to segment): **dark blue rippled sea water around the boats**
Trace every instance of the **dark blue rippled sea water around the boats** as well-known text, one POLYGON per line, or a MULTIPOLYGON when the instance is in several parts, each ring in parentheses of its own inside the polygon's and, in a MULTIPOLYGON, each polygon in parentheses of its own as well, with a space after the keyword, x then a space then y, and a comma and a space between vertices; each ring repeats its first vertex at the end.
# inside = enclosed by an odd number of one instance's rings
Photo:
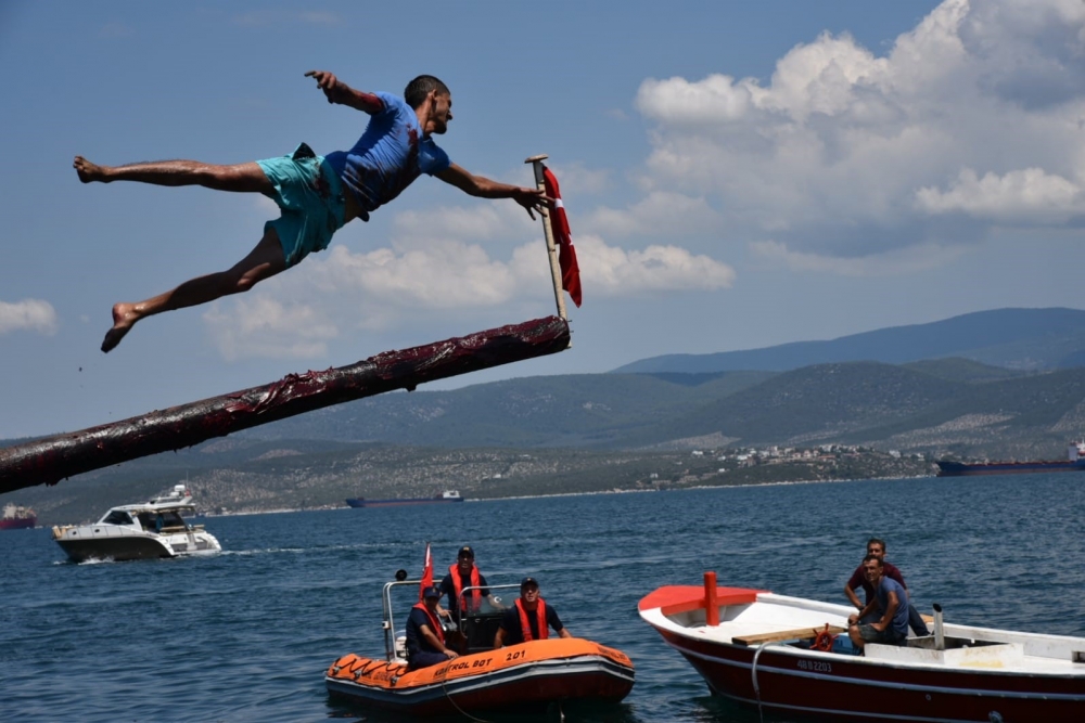
POLYGON ((640 620, 640 597, 714 570, 846 603, 875 535, 922 611, 1085 635, 1083 513, 1085 475, 1064 473, 209 517, 224 552, 169 560, 75 565, 48 530, 0 532, 0 721, 399 720, 330 699, 323 674, 383 655, 382 585, 419 577, 429 541, 437 577, 470 544, 490 583, 534 576, 574 635, 633 659, 623 703, 567 721, 753 723, 640 620))

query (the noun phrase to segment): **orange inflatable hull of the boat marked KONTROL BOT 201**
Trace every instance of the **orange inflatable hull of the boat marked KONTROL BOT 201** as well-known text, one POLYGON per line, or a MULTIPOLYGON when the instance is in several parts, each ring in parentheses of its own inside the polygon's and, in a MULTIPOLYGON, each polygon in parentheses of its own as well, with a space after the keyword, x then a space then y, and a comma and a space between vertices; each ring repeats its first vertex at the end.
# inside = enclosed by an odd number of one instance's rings
POLYGON ((545 708, 556 701, 618 702, 633 662, 591 641, 556 638, 461 656, 408 671, 401 662, 346 655, 324 677, 328 692, 411 715, 545 708))

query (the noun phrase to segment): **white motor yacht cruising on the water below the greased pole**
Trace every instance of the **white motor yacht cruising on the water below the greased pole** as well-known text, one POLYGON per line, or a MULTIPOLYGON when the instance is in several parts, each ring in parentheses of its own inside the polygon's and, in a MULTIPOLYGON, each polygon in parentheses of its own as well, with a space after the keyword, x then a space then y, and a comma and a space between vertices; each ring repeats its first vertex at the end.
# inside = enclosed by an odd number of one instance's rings
POLYGON ((221 552, 218 540, 203 525, 189 525, 182 517, 194 512, 188 489, 176 485, 150 502, 113 507, 93 525, 54 527, 53 540, 76 563, 221 552))

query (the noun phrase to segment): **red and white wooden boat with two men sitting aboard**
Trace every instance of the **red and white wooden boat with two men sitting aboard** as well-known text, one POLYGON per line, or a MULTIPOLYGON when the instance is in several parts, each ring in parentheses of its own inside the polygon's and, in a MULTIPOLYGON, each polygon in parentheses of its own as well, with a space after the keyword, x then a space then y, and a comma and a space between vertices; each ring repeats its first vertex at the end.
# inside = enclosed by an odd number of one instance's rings
POLYGON ((1085 721, 1083 637, 944 623, 935 607, 934 634, 899 647, 867 644, 859 656, 846 633, 855 608, 717 588, 713 572, 704 586, 660 588, 638 607, 714 694, 763 711, 834 721, 1085 721))

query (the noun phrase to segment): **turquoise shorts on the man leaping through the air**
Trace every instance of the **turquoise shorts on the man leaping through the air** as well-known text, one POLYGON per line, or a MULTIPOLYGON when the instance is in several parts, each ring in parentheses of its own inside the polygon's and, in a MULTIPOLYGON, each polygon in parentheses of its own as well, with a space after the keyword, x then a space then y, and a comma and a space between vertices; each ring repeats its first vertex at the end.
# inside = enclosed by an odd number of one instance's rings
POLYGON ((264 232, 271 228, 279 234, 286 268, 328 248, 343 228, 345 206, 343 184, 324 157, 302 143, 289 156, 256 163, 275 186, 271 199, 282 210, 264 224, 264 232))

